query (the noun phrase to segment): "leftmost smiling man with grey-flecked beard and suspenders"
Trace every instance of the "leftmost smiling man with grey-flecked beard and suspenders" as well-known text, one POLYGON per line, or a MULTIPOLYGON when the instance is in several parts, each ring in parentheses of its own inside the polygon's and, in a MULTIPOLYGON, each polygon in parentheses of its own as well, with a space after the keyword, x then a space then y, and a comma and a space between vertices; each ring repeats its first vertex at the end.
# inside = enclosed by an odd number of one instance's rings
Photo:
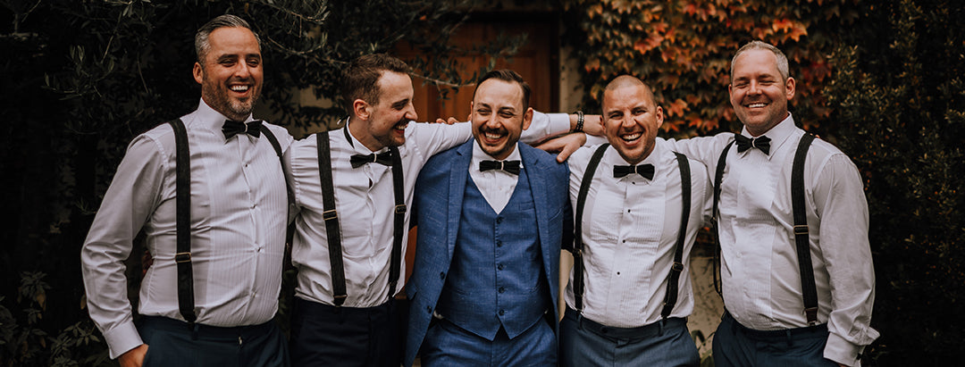
POLYGON ((180 118, 187 144, 176 144, 175 123, 127 147, 81 250, 87 305, 111 357, 125 367, 288 366, 285 335, 272 318, 288 215, 278 154, 291 137, 251 116, 262 53, 247 22, 218 16, 198 30, 195 48, 201 102, 180 118), (269 135, 281 138, 278 151, 269 135), (190 173, 183 212, 179 147, 190 173), (142 228, 153 264, 135 326, 124 260, 142 228))

